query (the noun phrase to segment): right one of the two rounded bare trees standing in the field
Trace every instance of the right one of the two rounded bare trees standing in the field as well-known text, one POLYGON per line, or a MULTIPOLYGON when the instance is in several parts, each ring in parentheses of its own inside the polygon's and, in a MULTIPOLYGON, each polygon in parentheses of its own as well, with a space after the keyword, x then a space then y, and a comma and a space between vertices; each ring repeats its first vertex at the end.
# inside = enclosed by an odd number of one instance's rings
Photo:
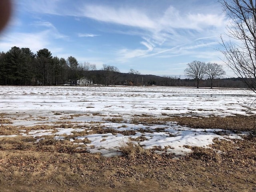
POLYGON ((221 65, 210 62, 206 64, 205 73, 211 81, 211 89, 213 80, 217 77, 221 77, 222 75, 226 74, 221 65))

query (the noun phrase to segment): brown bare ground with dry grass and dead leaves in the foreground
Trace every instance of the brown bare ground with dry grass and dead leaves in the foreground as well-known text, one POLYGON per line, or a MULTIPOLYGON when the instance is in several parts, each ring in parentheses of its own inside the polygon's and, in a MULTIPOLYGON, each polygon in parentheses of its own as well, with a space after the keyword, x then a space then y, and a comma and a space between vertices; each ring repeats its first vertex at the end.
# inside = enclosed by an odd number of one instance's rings
MULTIPOLYGON (((186 157, 124 146, 112 158, 49 136, 0 138, 0 191, 11 192, 252 192, 256 191, 255 117, 172 117, 193 128, 250 131, 244 140, 214 140, 186 157)), ((3 121, 3 120, 2 120, 3 121)), ((1 126, 1 134, 16 129, 1 126)), ((186 146, 191 148, 190 146, 186 146)))

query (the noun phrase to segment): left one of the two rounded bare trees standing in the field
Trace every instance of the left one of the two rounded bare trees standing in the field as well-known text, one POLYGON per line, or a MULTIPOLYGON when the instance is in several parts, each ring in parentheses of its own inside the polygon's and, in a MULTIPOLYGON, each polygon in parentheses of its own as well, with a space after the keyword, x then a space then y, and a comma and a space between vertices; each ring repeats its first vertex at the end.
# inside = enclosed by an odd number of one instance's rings
POLYGON ((188 78, 196 80, 196 88, 199 88, 199 82, 205 76, 206 64, 201 61, 192 61, 187 64, 187 68, 184 70, 188 78))

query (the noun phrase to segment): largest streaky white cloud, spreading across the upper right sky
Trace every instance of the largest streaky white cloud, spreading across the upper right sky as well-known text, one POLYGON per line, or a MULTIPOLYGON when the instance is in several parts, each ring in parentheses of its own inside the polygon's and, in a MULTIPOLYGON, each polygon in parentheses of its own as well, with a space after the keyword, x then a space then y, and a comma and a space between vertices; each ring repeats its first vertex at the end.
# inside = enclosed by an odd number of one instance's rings
POLYGON ((161 52, 154 51, 154 48, 158 47, 166 47, 165 50, 170 50, 170 47, 182 44, 184 50, 187 50, 188 48, 198 49, 216 44, 218 35, 223 31, 223 26, 227 22, 224 15, 217 12, 188 12, 184 14, 174 6, 169 6, 164 14, 158 14, 156 17, 155 14, 134 8, 85 4, 80 9, 80 14, 97 21, 142 30, 136 31, 136 33, 145 40, 139 43, 146 46, 147 50, 124 48, 117 52, 118 60, 122 58, 123 61, 134 57, 159 55, 161 52), (204 40, 204 42, 192 45, 194 40, 204 40), (167 48, 168 46, 169 48, 167 48))

